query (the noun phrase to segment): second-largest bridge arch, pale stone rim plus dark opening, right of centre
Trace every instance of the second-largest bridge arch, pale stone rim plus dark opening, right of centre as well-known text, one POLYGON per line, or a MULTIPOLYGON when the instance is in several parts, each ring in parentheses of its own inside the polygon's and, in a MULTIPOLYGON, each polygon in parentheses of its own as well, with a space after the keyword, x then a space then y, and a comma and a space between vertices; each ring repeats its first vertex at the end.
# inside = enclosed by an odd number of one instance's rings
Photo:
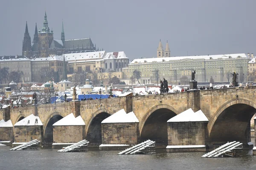
POLYGON ((151 139, 156 142, 157 146, 166 147, 168 143, 167 121, 177 113, 170 105, 154 105, 145 113, 139 125, 139 141, 151 139))

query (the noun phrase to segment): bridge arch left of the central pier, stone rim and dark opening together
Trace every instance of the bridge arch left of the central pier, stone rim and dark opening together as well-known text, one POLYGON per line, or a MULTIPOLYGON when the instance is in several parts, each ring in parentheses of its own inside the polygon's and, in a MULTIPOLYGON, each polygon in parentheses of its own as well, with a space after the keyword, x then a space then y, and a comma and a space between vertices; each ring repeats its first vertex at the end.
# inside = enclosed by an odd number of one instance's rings
POLYGON ((113 113, 106 108, 99 108, 93 114, 85 124, 86 140, 90 141, 91 144, 102 143, 102 131, 101 122, 113 113))

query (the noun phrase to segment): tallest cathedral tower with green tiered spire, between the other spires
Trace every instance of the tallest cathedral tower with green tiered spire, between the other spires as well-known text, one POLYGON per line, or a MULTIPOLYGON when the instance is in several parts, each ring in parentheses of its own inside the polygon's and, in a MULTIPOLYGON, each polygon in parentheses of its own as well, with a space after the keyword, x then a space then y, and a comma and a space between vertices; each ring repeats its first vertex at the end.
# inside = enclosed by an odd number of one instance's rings
POLYGON ((49 57, 50 51, 50 45, 53 40, 53 31, 50 31, 48 27, 48 21, 47 21, 47 15, 45 11, 44 15, 44 27, 42 30, 38 31, 38 37, 39 37, 39 42, 38 42, 38 55, 39 57, 49 57))

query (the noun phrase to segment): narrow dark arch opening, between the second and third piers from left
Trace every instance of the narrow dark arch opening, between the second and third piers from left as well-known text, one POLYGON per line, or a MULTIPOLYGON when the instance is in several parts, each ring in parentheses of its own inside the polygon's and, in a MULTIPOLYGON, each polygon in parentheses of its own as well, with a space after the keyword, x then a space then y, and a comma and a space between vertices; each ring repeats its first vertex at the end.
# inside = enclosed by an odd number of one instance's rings
MULTIPOLYGON (((53 142, 53 124, 58 122, 63 117, 60 115, 54 115, 47 123, 47 126, 44 130, 44 142, 45 143, 52 143, 53 142)), ((74 132, 75 133, 75 132, 74 132)))

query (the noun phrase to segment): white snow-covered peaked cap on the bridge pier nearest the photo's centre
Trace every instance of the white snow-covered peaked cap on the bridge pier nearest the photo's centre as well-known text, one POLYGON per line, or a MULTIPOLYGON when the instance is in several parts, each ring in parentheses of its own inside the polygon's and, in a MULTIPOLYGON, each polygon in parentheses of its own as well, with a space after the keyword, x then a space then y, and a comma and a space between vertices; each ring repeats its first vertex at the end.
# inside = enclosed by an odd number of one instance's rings
POLYGON ((102 123, 133 123, 139 122, 134 112, 127 113, 124 109, 114 113, 108 118, 104 119, 102 123))

